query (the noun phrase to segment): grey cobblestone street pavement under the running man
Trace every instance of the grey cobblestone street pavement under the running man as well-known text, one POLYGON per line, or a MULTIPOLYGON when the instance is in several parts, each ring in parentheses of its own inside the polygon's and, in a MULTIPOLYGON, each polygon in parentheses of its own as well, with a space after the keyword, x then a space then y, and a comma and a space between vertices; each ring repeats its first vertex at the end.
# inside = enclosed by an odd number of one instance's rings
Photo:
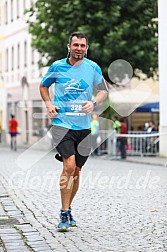
POLYGON ((0 252, 167 251, 165 166, 89 158, 73 204, 78 227, 60 233, 61 163, 34 151, 19 167, 20 155, 0 150, 0 252))

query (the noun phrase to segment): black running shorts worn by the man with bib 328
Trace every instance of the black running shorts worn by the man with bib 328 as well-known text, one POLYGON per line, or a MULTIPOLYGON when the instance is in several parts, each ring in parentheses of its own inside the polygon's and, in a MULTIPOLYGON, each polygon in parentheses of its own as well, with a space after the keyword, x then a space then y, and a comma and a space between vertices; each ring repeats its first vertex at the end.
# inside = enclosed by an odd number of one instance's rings
POLYGON ((53 145, 59 154, 68 158, 75 155, 76 166, 81 168, 91 151, 91 130, 72 130, 52 126, 53 145))

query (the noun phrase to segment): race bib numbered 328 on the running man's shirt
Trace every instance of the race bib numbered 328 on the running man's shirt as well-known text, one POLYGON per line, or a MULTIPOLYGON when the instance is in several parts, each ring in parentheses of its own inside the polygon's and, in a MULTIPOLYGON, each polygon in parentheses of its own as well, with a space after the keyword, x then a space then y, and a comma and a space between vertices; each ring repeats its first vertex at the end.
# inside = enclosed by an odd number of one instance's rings
POLYGON ((82 106, 83 106, 82 101, 66 102, 65 114, 70 116, 84 116, 86 114, 82 111, 82 106))

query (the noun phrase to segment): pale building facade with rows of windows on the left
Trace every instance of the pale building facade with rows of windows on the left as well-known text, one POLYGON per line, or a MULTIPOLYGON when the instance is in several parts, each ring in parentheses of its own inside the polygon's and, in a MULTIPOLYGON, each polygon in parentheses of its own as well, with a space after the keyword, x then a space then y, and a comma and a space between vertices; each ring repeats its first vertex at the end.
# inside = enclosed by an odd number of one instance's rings
POLYGON ((15 115, 19 122, 20 144, 35 143, 48 126, 39 94, 40 55, 31 46, 24 14, 31 4, 31 0, 0 1, 0 94, 3 96, 0 119, 8 141, 8 120, 11 114, 15 115))

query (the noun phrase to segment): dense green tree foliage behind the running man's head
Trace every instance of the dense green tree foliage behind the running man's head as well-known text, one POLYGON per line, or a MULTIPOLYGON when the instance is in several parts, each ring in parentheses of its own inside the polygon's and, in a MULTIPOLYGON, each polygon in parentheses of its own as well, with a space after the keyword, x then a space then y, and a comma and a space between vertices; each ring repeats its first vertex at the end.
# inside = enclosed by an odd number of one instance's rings
POLYGON ((157 73, 157 0, 36 0, 27 15, 32 45, 47 64, 66 57, 70 33, 81 31, 89 40, 88 58, 106 78, 117 59, 128 61, 136 76, 157 73))

